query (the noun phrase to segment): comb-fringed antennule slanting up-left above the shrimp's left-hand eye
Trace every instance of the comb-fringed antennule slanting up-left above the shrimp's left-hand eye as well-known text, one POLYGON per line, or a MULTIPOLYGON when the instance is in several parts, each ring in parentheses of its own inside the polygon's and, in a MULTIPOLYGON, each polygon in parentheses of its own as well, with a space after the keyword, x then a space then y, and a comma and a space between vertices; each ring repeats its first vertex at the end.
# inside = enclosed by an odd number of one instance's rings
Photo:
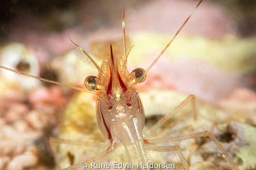
MULTIPOLYGON (((70 41, 73 42, 71 39, 70 39, 70 41)), ((75 44, 78 47, 74 50, 76 57, 79 58, 82 62, 84 62, 88 66, 90 66, 91 68, 97 68, 97 70, 101 74, 102 70, 101 70, 100 66, 96 63, 96 61, 84 49, 82 49, 76 43, 73 42, 73 44, 75 44)))

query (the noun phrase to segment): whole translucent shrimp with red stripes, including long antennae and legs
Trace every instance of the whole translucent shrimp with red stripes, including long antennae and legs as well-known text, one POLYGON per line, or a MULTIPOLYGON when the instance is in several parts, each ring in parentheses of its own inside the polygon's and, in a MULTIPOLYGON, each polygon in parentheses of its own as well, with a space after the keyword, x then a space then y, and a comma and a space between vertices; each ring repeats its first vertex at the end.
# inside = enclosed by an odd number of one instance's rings
MULTIPOLYGON (((44 79, 41 77, 36 77, 27 73, 12 70, 4 66, 0 68, 19 73, 28 77, 46 81, 49 83, 61 85, 64 87, 69 87, 75 90, 80 90, 86 93, 97 95, 97 123, 102 134, 109 140, 108 147, 94 155, 91 158, 85 158, 85 160, 78 163, 71 163, 71 166, 65 168, 66 170, 81 169, 85 168, 84 163, 87 162, 88 166, 90 162, 95 162, 97 164, 104 164, 108 160, 111 154, 113 154, 119 145, 123 145, 125 150, 128 164, 130 165, 140 165, 132 166, 132 169, 149 169, 148 151, 158 151, 158 152, 169 152, 176 151, 183 167, 187 170, 190 169, 187 160, 185 159, 183 152, 178 145, 166 145, 172 141, 181 141, 191 138, 209 137, 222 151, 225 155, 226 160, 232 165, 233 169, 238 170, 239 168, 233 162, 232 158, 229 156, 227 151, 223 149, 222 144, 215 138, 213 134, 208 131, 184 134, 180 136, 170 137, 169 131, 161 131, 164 126, 167 126, 173 113, 182 110, 189 103, 192 103, 194 121, 197 120, 197 112, 195 107, 195 96, 190 95, 184 100, 172 113, 167 114, 162 119, 160 119, 153 127, 148 131, 143 133, 143 128, 145 124, 144 109, 140 97, 138 96, 138 91, 136 86, 138 83, 144 82, 146 79, 146 74, 162 56, 165 50, 170 46, 172 41, 179 34, 180 30, 190 19, 194 11, 200 5, 200 2, 188 16, 186 21, 182 24, 180 29, 176 32, 175 36, 170 40, 170 42, 165 46, 162 52, 158 55, 155 61, 144 70, 142 68, 134 69, 131 73, 127 70, 127 57, 129 55, 128 48, 128 32, 127 32, 127 21, 124 19, 123 14, 123 56, 119 53, 115 53, 112 50, 112 45, 110 44, 110 55, 106 56, 103 60, 102 67, 100 67, 95 60, 80 46, 75 44, 70 38, 70 40, 78 48, 75 49, 75 55, 85 64, 95 68, 99 72, 99 77, 88 76, 84 83, 87 89, 80 87, 71 86, 64 83, 59 83, 56 81, 44 79)), ((70 142, 64 139, 52 138, 51 139, 52 150, 57 158, 57 148, 55 144, 58 142, 62 143, 76 143, 70 142)), ((77 144, 84 144, 86 146, 97 147, 98 143, 84 143, 77 142, 77 144)), ((91 165, 91 164, 90 164, 91 165)), ((160 165, 159 165, 160 166, 160 165)), ((88 167, 91 169, 92 167, 88 167)))

